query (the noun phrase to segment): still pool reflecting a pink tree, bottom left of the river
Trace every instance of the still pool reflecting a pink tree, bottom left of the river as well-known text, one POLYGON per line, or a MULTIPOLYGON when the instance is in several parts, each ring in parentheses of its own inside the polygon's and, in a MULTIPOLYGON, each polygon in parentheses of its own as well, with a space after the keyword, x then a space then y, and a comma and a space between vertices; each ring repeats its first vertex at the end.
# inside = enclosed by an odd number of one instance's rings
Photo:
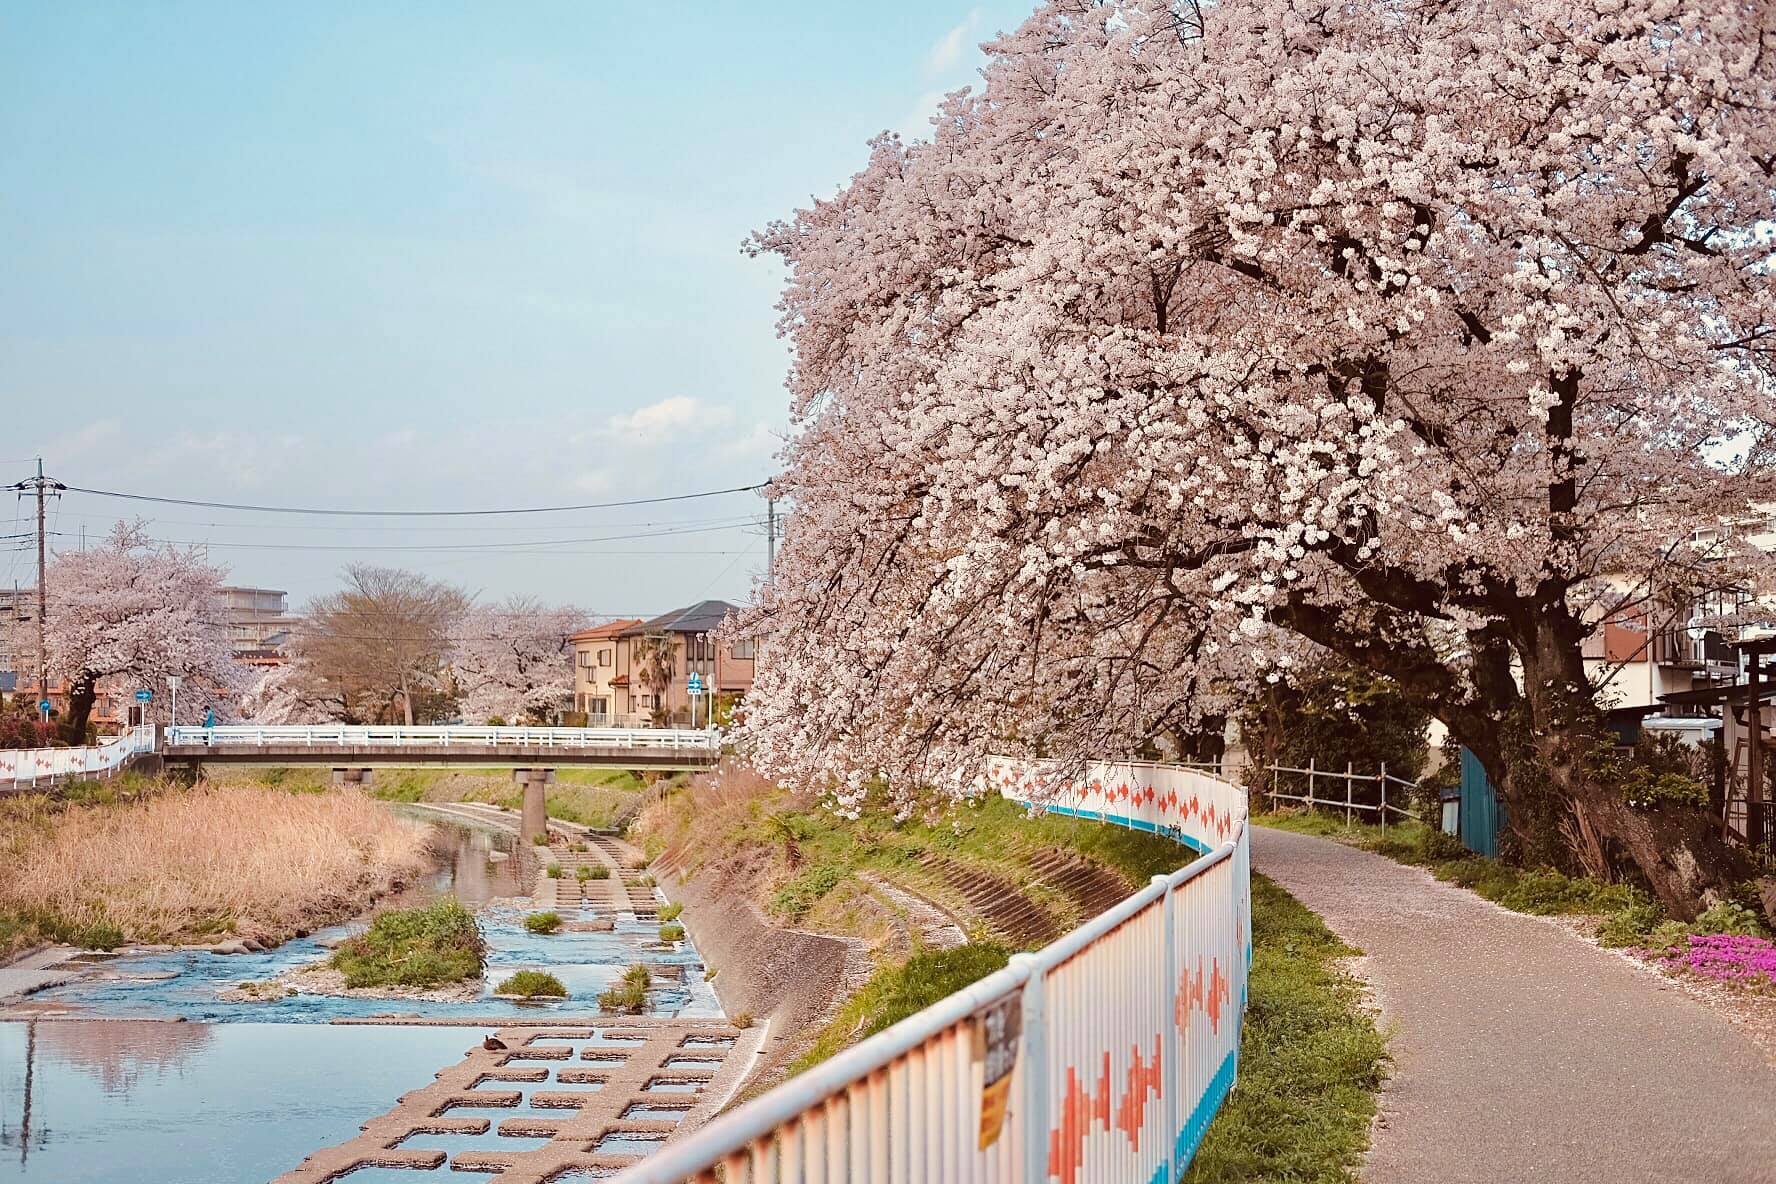
MULTIPOLYGON (((353 1138, 368 1117, 483 1035, 480 1028, 0 1022, 0 1179, 265 1184, 314 1148, 353 1138)), ((472 1179, 449 1175, 451 1184, 472 1179)), ((353 1175, 353 1184, 368 1180, 353 1175)))

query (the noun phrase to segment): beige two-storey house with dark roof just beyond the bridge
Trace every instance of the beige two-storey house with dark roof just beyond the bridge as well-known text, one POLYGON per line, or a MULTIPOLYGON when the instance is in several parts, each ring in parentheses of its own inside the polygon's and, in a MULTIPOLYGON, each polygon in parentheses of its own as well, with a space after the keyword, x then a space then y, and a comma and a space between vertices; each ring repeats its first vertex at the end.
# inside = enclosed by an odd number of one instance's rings
POLYGON ((591 726, 689 726, 689 678, 696 675, 703 687, 696 722, 705 722, 714 701, 732 703, 753 685, 753 643, 716 639, 733 612, 739 607, 726 600, 700 600, 646 621, 574 634, 574 710, 586 712, 591 726))

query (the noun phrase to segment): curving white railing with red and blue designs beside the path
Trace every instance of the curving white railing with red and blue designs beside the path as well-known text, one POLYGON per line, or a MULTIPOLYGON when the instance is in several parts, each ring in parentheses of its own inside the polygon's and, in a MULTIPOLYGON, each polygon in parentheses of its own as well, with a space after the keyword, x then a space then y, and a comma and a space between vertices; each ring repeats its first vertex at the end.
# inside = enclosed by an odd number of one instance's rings
POLYGON ((995 762, 1034 808, 1202 852, 1037 953, 723 1115, 618 1184, 1172 1184, 1238 1072, 1245 793, 1169 765, 995 762))

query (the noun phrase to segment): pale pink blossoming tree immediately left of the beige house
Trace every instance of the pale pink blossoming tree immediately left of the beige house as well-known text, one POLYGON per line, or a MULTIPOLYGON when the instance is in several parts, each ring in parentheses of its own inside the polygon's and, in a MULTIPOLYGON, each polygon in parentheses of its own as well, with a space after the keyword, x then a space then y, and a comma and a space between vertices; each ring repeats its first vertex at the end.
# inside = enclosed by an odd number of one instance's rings
POLYGON ((568 634, 586 614, 529 596, 474 605, 449 653, 464 719, 549 719, 574 701, 574 648, 568 634))

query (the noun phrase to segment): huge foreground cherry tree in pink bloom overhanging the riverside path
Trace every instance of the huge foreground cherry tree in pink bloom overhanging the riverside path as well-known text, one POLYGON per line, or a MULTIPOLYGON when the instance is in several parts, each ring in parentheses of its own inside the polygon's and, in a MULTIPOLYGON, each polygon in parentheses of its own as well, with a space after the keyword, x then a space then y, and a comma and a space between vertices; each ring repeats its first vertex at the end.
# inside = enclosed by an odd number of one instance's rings
POLYGON ((1581 644, 1769 573, 1691 538, 1776 495, 1776 5, 1050 0, 986 50, 751 243, 796 421, 758 758, 966 792, 1330 651, 1522 859, 1678 914, 1742 875, 1616 788, 1581 644))

